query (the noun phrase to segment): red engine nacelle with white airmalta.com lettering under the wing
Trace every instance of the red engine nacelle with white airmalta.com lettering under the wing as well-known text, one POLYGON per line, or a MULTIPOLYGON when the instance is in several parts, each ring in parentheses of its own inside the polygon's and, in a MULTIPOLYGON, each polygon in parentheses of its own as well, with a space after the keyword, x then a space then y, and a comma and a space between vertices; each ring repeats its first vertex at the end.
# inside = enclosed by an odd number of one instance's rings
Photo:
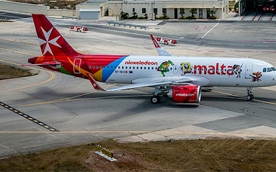
POLYGON ((201 87, 199 85, 175 86, 170 89, 167 95, 177 103, 199 103, 201 87))

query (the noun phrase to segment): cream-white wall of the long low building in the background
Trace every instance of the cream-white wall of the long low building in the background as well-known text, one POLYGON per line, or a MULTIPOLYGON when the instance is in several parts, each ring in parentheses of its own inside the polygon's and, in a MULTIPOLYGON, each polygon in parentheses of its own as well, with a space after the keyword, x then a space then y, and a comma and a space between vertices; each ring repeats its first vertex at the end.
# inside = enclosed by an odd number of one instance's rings
POLYGON ((162 8, 167 9, 167 15, 170 19, 175 19, 175 8, 177 8, 177 17, 180 18, 181 14, 179 14, 180 9, 185 9, 184 17, 191 16, 190 9, 196 8, 197 14, 195 16, 199 18, 199 8, 203 10, 203 19, 207 18, 206 9, 216 11, 215 16, 217 19, 223 19, 228 14, 228 0, 221 1, 108 1, 108 12, 109 15, 115 15, 115 9, 121 11, 128 12, 130 16, 132 16, 132 8, 135 8, 135 12, 137 12, 138 17, 144 17, 144 13, 142 13, 141 9, 146 8, 146 14, 148 14, 148 19, 151 19, 152 9, 157 8, 157 17, 161 17, 163 15, 162 8), (224 12, 223 12, 224 8, 224 12))

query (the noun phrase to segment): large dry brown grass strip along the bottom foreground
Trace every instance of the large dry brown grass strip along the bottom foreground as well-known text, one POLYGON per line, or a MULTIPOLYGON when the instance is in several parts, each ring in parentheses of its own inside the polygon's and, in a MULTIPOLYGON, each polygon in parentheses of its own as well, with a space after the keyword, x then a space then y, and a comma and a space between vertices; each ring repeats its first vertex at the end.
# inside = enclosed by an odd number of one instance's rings
POLYGON ((117 162, 97 155, 95 144, 64 147, 0 160, 0 171, 275 171, 271 140, 99 142, 117 162))

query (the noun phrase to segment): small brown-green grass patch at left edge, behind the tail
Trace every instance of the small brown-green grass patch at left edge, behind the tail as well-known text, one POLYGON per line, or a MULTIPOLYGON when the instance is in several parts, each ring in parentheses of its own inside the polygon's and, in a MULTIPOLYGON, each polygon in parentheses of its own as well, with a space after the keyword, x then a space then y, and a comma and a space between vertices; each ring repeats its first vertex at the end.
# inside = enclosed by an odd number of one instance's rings
POLYGON ((18 69, 10 65, 0 64, 0 80, 9 78, 19 78, 22 76, 32 76, 26 69, 18 69))

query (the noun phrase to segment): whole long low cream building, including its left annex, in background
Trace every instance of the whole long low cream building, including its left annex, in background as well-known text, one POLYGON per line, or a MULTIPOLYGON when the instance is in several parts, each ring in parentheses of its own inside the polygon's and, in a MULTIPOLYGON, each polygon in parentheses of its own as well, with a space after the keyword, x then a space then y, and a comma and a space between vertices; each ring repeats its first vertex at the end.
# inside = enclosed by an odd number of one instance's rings
POLYGON ((211 12, 217 19, 224 19, 228 14, 228 6, 228 0, 112 0, 105 2, 88 0, 77 5, 76 14, 80 19, 83 17, 92 19, 91 17, 95 17, 97 12, 99 12, 99 17, 120 16, 121 12, 128 12, 131 17, 132 13, 136 12, 138 17, 144 17, 146 14, 148 19, 155 19, 156 13, 156 17, 162 17, 166 13, 170 19, 179 19, 182 16, 191 16, 190 10, 194 8, 196 10, 194 15, 197 19, 208 19, 211 12), (101 5, 94 6, 100 2, 102 2, 101 5))

